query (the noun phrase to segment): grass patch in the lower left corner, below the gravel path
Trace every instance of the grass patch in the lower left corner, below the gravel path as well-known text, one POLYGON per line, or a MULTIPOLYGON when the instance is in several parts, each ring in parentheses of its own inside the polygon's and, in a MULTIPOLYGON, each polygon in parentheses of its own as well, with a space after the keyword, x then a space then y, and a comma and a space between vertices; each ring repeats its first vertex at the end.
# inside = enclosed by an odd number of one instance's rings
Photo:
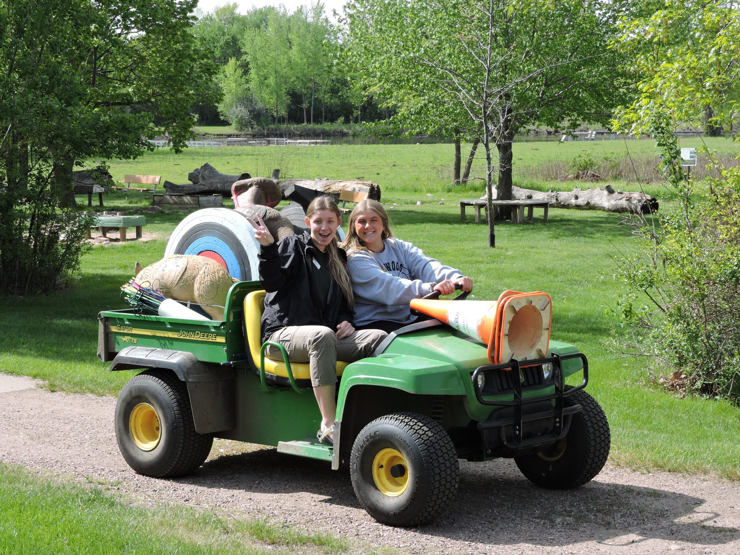
POLYGON ((183 506, 135 508, 110 489, 0 464, 0 554, 265 555, 275 548, 332 554, 348 548, 345 539, 261 519, 183 506))

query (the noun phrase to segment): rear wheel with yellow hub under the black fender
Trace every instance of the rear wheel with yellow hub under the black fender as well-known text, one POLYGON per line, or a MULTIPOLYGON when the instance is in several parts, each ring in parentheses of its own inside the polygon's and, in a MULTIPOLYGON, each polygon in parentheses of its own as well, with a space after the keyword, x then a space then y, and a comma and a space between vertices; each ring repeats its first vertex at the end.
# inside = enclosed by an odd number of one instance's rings
POLYGON ((170 371, 132 377, 115 405, 115 437, 129 466, 152 478, 184 476, 203 464, 212 434, 198 434, 187 386, 170 371))

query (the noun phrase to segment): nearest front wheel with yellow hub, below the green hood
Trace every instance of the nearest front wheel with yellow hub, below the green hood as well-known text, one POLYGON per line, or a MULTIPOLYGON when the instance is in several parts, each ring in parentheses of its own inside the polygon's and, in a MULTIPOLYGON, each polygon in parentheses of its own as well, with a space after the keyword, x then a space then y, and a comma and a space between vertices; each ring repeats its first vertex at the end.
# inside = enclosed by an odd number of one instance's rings
POLYGON ((443 513, 460 467, 447 432, 423 414, 399 412, 360 431, 350 458, 354 493, 378 522, 416 526, 443 513))

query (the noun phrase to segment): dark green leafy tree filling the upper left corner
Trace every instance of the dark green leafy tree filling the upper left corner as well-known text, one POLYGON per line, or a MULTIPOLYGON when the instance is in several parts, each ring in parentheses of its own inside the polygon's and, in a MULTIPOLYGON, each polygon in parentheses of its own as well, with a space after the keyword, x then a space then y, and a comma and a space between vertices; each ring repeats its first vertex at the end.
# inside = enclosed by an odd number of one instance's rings
POLYGON ((215 100, 194 7, 0 0, 0 290, 50 291, 78 267, 89 222, 64 207, 75 165, 192 137, 191 104, 215 100))

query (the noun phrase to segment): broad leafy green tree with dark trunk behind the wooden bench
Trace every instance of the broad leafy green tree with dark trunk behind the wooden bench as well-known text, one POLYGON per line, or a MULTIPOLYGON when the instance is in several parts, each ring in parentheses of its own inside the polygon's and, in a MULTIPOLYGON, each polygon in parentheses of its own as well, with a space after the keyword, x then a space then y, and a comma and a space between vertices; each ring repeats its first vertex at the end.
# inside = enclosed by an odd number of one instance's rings
POLYGON ((510 199, 515 133, 607 121, 622 100, 620 56, 608 48, 615 10, 592 0, 355 0, 346 15, 381 97, 457 104, 468 118, 454 124, 481 128, 489 191, 495 146, 498 198, 510 199))

